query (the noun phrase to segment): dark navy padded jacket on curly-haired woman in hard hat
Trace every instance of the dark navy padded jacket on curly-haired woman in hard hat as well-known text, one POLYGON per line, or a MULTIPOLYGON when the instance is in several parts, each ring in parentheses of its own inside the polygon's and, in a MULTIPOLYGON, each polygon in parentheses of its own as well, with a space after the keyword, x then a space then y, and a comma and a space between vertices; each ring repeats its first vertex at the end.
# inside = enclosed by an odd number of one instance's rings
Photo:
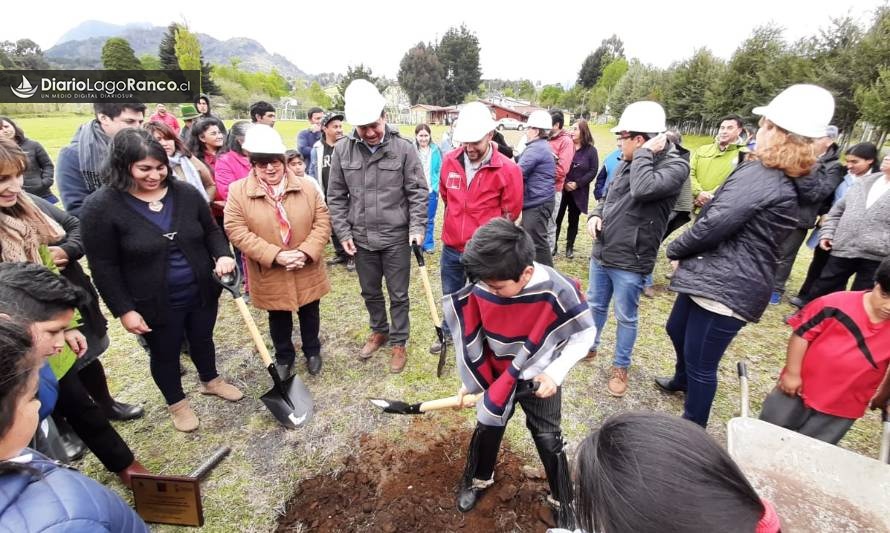
POLYGON ((680 268, 671 290, 722 303, 749 322, 769 304, 782 243, 797 225, 798 198, 784 172, 740 164, 667 248, 680 268))

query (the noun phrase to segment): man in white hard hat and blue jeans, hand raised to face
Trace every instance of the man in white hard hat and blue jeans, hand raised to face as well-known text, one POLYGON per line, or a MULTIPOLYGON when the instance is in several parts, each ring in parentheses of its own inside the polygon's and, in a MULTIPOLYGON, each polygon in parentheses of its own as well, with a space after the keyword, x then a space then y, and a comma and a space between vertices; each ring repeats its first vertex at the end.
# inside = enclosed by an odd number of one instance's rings
POLYGON ((655 266, 668 218, 689 175, 687 152, 667 140, 666 129, 658 103, 627 106, 612 128, 623 161, 605 200, 587 220, 594 239, 587 300, 597 329, 588 357, 596 355, 614 299, 617 333, 608 392, 615 397, 627 391, 643 279, 655 266))

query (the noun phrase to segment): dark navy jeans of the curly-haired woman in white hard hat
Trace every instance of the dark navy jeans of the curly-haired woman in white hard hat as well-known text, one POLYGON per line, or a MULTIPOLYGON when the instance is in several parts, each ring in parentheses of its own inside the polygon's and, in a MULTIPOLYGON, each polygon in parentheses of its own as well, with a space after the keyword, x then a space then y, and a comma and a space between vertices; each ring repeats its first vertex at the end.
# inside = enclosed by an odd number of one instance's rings
POLYGON ((677 295, 665 329, 677 352, 673 384, 686 389, 683 418, 708 425, 717 393, 717 367, 744 325, 744 320, 700 307, 686 294, 677 295))

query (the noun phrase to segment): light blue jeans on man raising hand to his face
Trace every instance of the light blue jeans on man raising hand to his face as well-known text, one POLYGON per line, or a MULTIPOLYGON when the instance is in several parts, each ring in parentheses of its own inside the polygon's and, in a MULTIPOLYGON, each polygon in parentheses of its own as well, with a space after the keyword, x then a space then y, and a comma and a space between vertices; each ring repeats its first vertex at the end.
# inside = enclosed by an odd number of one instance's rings
POLYGON ((607 268, 596 259, 590 259, 590 287, 587 289, 587 303, 593 312, 596 324, 596 340, 591 349, 600 345, 603 327, 609 318, 609 302, 615 296, 615 319, 618 322, 615 338, 613 365, 618 368, 630 366, 630 356, 637 340, 637 310, 640 307, 640 294, 643 292, 643 274, 618 268, 607 268))

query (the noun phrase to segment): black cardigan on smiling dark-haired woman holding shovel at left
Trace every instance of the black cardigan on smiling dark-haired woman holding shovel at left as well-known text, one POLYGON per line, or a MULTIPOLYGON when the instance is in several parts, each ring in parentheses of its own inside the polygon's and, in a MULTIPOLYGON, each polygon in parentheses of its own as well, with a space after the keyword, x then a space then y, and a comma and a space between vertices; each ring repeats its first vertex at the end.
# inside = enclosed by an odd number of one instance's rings
MULTIPOLYGON (((197 189, 167 179, 173 195, 171 232, 195 273, 203 305, 219 298, 213 281, 214 258, 232 252, 197 189)), ((165 323, 170 308, 167 291, 169 240, 163 231, 127 202, 125 192, 102 187, 83 205, 83 242, 96 288, 115 317, 137 311, 153 326, 165 323)))

